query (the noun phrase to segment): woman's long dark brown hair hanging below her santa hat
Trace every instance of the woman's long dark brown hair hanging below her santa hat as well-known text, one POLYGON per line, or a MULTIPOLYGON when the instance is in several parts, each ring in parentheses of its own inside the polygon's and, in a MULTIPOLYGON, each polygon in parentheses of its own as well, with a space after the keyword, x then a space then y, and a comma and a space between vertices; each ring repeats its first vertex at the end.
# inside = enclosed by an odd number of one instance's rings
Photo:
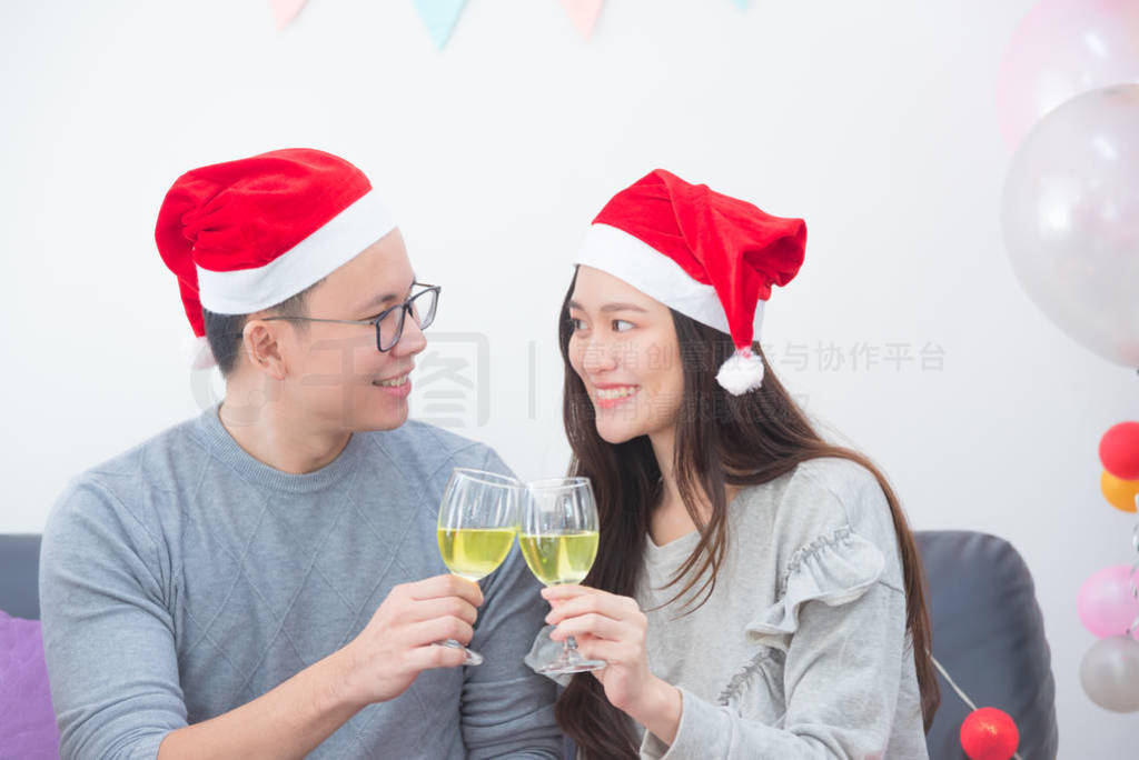
MULTIPOLYGON (((585 387, 570 365, 570 283, 558 327, 565 362, 563 418, 573 449, 570 472, 593 481, 600 517, 597 561, 585 584, 613 594, 632 596, 640 573, 649 514, 661 491, 661 469, 646 436, 623 444, 608 444, 597 432, 593 405, 585 387)), ((913 643, 913 663, 921 692, 926 730, 941 701, 929 655, 929 617, 925 578, 913 535, 902 507, 882 472, 865 455, 822 440, 764 360, 763 385, 743 396, 731 396, 715 382, 713 367, 735 350, 730 337, 672 312, 683 369, 683 396, 678 412, 674 472, 689 517, 699 529, 699 544, 677 573, 688 578, 673 598, 699 581, 697 593, 706 600, 715 588, 716 573, 728 544, 726 485, 753 486, 773 480, 800 463, 822 456, 857 462, 874 473, 893 514, 906 579, 906 626, 913 643), (705 521, 697 505, 707 499, 705 521), (695 572, 690 572, 696 568, 695 572)), ((752 347, 763 357, 759 344, 752 347)), ((702 602, 703 603, 703 600, 702 602)), ((698 606, 698 605, 697 605, 698 606)), ((556 713, 562 729, 585 758, 637 758, 638 743, 623 712, 609 704, 600 683, 590 674, 573 677, 558 697, 556 713)))

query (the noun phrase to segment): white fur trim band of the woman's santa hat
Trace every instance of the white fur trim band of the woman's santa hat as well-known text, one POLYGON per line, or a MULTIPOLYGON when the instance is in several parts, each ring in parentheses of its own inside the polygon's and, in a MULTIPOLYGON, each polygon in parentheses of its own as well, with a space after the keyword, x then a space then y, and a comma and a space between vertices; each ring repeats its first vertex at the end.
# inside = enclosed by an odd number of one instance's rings
MULTIPOLYGON (((685 316, 731 334, 715 288, 697 282, 680 264, 624 230, 591 224, 574 263, 607 272, 685 316)), ((761 300, 755 304, 752 340, 760 339, 762 322, 761 300)))

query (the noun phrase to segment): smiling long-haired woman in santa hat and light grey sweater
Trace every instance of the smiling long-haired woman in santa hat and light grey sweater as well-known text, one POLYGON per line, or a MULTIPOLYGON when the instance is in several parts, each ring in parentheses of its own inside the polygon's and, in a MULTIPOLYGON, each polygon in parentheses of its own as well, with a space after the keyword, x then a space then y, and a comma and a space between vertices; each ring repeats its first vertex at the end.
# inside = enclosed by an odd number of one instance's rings
POLYGON ((927 757, 939 695, 906 517, 763 377, 762 308, 805 238, 661 170, 590 229, 560 347, 600 546, 584 585, 543 592, 554 642, 608 663, 558 700, 583 757, 927 757))

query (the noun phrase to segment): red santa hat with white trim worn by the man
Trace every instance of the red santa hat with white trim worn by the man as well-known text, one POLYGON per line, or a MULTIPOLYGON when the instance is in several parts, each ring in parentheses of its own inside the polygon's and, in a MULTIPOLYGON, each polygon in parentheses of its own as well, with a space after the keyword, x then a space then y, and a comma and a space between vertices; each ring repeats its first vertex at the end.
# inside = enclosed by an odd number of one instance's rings
MULTIPOLYGON (((360 170, 331 154, 289 148, 178 177, 154 236, 204 345, 203 307, 251 314, 274 306, 394 228, 360 170)), ((211 364, 206 347, 195 365, 211 364)))

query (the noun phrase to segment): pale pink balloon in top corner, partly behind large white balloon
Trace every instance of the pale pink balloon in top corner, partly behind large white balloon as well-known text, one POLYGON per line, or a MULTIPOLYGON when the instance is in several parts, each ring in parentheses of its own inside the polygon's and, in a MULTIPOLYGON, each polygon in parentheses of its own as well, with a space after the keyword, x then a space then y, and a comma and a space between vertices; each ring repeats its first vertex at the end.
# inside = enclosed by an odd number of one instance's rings
POLYGON ((1139 2, 1043 0, 1005 50, 1000 129, 1016 147, 1040 117, 1081 92, 1139 82, 1139 2))

